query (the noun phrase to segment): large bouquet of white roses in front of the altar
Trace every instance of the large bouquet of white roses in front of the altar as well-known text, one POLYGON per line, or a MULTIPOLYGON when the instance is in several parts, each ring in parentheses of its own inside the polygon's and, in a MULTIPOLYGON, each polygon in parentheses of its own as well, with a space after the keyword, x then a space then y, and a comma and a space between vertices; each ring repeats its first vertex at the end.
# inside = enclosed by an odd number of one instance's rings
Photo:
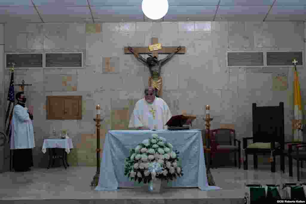
POLYGON ((130 180, 149 183, 152 179, 169 180, 183 176, 182 167, 178 163, 179 152, 173 150, 172 144, 165 138, 152 134, 137 147, 130 150, 125 159, 125 176, 130 180))

